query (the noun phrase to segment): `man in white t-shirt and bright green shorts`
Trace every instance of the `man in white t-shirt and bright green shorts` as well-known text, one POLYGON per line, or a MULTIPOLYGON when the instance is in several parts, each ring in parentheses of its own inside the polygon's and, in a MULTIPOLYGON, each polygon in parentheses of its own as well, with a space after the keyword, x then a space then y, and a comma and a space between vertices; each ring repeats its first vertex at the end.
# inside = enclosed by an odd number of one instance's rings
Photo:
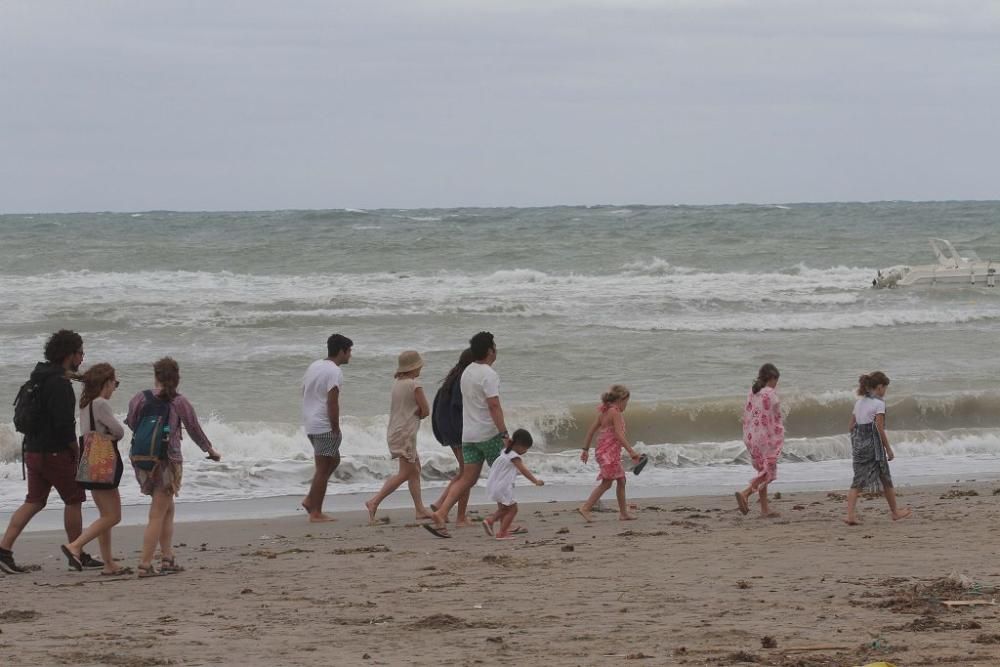
POLYGON ((480 331, 469 340, 472 363, 462 372, 462 458, 465 469, 448 491, 441 507, 424 528, 437 537, 451 537, 446 527, 448 512, 479 480, 483 463, 493 462, 510 444, 503 408, 500 406, 500 376, 493 370, 497 347, 493 334, 480 331))

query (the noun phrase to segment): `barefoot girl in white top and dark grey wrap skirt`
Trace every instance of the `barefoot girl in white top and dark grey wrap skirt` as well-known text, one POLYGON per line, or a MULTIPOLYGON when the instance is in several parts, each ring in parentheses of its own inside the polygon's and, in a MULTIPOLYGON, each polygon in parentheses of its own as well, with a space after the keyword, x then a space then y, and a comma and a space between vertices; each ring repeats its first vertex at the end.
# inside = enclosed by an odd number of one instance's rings
POLYGON ((885 392, 889 378, 882 371, 862 375, 858 379, 858 399, 851 415, 851 453, 854 459, 854 481, 847 494, 847 518, 844 523, 860 523, 856 507, 858 496, 864 492, 885 491, 886 502, 893 521, 912 514, 909 507, 896 507, 896 490, 889 475, 889 461, 893 459, 889 439, 885 435, 885 392))

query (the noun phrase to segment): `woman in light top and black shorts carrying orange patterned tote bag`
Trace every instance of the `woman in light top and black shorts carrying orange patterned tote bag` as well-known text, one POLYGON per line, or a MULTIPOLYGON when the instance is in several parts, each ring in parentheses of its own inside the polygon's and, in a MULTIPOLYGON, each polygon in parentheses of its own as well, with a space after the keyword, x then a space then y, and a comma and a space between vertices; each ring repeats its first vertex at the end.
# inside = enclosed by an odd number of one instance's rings
MULTIPOLYGON (((80 395, 80 430, 84 433, 97 431, 110 436, 115 441, 117 450, 118 441, 125 436, 125 427, 115 419, 114 410, 111 409, 108 400, 118 388, 114 367, 111 364, 94 364, 80 379, 83 381, 83 392, 80 395)), ((118 493, 118 483, 121 481, 124 465, 121 454, 117 451, 116 454, 118 460, 114 483, 89 486, 90 495, 97 505, 100 516, 84 529, 80 537, 62 546, 63 555, 76 570, 81 569, 80 558, 83 555, 83 548, 96 537, 101 545, 101 559, 104 561, 101 574, 116 576, 132 573, 132 568, 122 567, 115 562, 111 551, 111 528, 122 519, 122 499, 118 493)))

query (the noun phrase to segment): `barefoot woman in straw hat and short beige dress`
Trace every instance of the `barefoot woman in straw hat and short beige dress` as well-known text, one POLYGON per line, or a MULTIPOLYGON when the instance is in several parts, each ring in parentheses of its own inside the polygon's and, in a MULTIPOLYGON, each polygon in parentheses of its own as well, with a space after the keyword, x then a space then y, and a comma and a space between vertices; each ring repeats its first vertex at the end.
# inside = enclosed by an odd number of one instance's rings
POLYGON ((387 440, 392 458, 399 459, 399 472, 385 480, 382 490, 365 502, 369 522, 375 523, 379 504, 406 482, 413 497, 417 519, 430 518, 430 512, 420 499, 420 459, 417 457, 417 431, 420 420, 430 414, 424 389, 420 386, 420 369, 424 360, 420 353, 407 350, 400 353, 396 381, 392 385, 392 405, 389 408, 387 440))

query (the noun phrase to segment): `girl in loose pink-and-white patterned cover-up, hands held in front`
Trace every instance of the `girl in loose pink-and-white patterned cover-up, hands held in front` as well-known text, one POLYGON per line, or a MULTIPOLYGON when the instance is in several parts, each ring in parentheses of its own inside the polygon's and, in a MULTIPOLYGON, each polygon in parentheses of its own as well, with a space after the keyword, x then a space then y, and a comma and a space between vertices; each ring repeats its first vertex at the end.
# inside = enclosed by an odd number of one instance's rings
POLYGON ((750 513, 750 496, 760 498, 760 514, 771 518, 778 516, 767 505, 767 485, 778 477, 778 458, 785 444, 785 427, 781 422, 781 405, 778 401, 778 378, 781 373, 774 364, 764 364, 757 372, 746 407, 743 408, 743 443, 750 453, 757 476, 750 480, 750 486, 736 492, 736 503, 740 512, 750 513))

